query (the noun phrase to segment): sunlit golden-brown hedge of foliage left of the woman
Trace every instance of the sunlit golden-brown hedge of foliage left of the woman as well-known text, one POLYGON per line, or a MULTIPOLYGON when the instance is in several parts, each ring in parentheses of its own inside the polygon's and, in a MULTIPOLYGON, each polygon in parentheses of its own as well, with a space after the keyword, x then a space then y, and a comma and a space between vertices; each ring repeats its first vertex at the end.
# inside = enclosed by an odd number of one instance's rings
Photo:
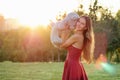
POLYGON ((64 52, 51 44, 49 28, 39 26, 34 30, 20 28, 2 32, 0 42, 0 61, 63 61, 64 52))

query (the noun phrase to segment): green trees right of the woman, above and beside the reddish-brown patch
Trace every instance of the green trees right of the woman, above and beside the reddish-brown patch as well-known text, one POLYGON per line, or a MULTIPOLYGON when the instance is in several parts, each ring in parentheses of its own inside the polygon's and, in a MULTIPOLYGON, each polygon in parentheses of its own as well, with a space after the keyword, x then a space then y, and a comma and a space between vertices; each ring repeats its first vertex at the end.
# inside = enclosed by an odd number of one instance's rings
MULTIPOLYGON (((93 20, 94 32, 104 32, 107 34, 108 38, 108 50, 107 55, 110 56, 110 61, 112 61, 112 56, 118 56, 118 52, 116 50, 120 48, 120 11, 116 14, 116 17, 112 16, 112 13, 109 9, 105 9, 104 7, 97 4, 98 0, 94 1, 94 4, 90 5, 89 16, 93 20), (100 13, 98 16, 97 13, 100 13)), ((108 57, 109 57, 108 56, 108 57)), ((115 57, 119 62, 120 57, 115 57)))

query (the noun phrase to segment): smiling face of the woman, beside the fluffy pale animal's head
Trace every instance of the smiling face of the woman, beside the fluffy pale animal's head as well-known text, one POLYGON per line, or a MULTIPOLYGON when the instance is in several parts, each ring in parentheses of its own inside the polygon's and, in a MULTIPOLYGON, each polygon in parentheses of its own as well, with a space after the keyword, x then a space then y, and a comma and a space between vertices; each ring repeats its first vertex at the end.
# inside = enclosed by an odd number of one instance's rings
POLYGON ((86 30, 86 20, 84 17, 81 17, 76 23, 76 30, 86 30))

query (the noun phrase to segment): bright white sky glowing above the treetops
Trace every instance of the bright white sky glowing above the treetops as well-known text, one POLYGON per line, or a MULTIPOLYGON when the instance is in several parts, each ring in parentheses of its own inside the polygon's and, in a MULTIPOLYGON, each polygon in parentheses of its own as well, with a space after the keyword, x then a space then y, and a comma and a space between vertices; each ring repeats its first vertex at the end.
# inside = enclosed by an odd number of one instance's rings
MULTIPOLYGON (((0 14, 16 18, 22 24, 35 26, 55 20, 59 12, 70 12, 83 3, 85 10, 94 0, 0 0, 0 14)), ((120 0, 99 0, 99 4, 117 12, 120 0)))

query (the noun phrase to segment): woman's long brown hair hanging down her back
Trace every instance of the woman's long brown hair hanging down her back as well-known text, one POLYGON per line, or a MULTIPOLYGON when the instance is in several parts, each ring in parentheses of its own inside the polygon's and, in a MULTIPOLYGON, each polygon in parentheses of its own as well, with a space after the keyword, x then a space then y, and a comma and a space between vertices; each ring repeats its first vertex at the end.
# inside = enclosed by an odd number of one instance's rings
POLYGON ((86 20, 87 29, 83 32, 84 35, 84 44, 83 44, 83 52, 82 57, 85 59, 87 63, 91 63, 93 61, 93 53, 94 53, 94 32, 92 27, 92 20, 88 16, 81 16, 86 20))

